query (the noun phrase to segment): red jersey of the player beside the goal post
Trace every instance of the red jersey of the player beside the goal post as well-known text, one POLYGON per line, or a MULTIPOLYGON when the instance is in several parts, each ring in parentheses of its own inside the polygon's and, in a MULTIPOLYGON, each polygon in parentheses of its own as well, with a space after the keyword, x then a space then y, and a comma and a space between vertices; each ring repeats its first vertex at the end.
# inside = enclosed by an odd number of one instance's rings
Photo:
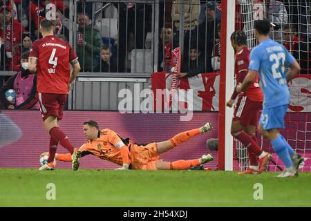
MULTIPOLYGON (((249 66, 250 50, 244 47, 240 52, 236 54, 234 71, 236 77, 236 84, 242 83, 249 66)), ((247 96, 253 102, 263 102, 263 90, 259 86, 259 77, 256 75, 255 81, 244 91, 244 95, 247 96)))

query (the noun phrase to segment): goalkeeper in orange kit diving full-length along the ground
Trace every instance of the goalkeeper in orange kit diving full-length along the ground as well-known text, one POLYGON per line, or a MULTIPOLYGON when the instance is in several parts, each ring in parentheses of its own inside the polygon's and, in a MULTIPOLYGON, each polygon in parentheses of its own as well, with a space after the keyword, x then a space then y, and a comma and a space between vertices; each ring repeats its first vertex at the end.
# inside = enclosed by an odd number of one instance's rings
POLYGON ((97 122, 84 122, 83 132, 88 139, 73 155, 57 154, 56 160, 73 162, 73 170, 79 169, 79 158, 92 154, 102 160, 108 160, 122 166, 119 169, 135 170, 182 170, 205 164, 214 157, 210 154, 194 160, 178 160, 165 162, 160 160, 160 154, 175 148, 178 144, 187 142, 191 137, 211 131, 211 124, 207 123, 200 128, 178 133, 170 140, 154 142, 147 145, 133 144, 129 139, 123 139, 114 131, 106 128, 100 131, 97 122))

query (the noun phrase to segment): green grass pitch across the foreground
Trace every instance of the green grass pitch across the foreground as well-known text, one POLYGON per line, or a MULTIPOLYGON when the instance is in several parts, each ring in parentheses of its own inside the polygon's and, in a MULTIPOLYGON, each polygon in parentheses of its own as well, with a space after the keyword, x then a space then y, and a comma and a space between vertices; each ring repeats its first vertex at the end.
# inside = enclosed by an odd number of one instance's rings
POLYGON ((311 206, 311 173, 277 174, 0 169, 0 206, 311 206), (56 200, 46 199, 49 183, 56 200), (254 200, 256 183, 263 200, 254 200))

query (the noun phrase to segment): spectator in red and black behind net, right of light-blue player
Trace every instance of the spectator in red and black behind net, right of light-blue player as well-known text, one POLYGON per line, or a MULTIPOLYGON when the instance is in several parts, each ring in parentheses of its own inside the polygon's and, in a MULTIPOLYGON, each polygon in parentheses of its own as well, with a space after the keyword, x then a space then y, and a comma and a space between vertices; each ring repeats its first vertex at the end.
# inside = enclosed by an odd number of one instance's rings
POLYGON ((301 74, 311 74, 310 58, 308 56, 308 43, 302 37, 296 35, 294 26, 285 24, 283 26, 283 44, 294 56, 301 66, 301 74))

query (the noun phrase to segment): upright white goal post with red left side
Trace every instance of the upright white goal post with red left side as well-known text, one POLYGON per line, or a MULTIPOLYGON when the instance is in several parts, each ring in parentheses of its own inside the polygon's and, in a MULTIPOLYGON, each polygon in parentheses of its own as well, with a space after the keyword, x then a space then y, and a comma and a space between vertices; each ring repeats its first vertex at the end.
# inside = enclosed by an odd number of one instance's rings
POLYGON ((232 171, 233 140, 230 127, 233 108, 227 108, 226 102, 234 90, 234 50, 230 36, 234 32, 235 1, 221 1, 221 55, 219 86, 219 118, 218 118, 218 169, 232 171), (225 55, 225 56, 224 56, 225 55))

